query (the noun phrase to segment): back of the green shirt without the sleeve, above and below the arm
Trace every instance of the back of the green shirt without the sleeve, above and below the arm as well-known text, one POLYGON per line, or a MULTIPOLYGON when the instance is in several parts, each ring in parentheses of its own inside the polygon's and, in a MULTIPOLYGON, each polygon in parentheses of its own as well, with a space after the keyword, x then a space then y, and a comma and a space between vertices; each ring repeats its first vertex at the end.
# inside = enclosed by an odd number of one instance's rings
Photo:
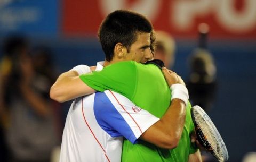
MULTIPOLYGON (((138 80, 137 89, 135 89, 136 93, 132 101, 161 118, 170 105, 170 88, 161 70, 155 65, 135 65, 137 66, 138 80)), ((182 140, 180 140, 177 148, 167 150, 142 140, 138 141, 138 144, 132 144, 130 141, 124 140, 122 161, 187 161, 190 147, 190 139, 188 137, 193 130, 193 125, 190 125, 191 122, 189 122, 191 121, 189 106, 187 107, 182 140), (180 154, 180 150, 184 150, 183 154, 180 154)))

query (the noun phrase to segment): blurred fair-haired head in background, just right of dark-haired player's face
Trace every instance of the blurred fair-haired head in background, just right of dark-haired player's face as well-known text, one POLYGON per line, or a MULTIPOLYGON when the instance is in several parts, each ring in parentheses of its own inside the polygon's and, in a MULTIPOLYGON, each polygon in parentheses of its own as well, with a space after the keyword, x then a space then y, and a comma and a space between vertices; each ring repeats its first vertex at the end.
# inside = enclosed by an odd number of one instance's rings
POLYGON ((165 67, 172 68, 175 59, 175 40, 165 31, 156 31, 156 49, 154 59, 161 59, 165 67))

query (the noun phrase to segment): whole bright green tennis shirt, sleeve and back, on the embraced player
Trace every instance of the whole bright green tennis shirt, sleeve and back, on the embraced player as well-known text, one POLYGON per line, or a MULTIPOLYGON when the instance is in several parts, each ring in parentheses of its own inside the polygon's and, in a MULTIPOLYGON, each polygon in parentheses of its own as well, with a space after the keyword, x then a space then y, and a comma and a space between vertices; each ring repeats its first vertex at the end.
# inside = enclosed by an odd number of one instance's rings
MULTIPOLYGON (((170 105, 170 88, 161 69, 153 64, 119 62, 104 67, 102 71, 81 75, 80 78, 95 90, 113 90, 122 94, 159 118, 170 105)), ((190 133, 194 129, 190 108, 191 105, 188 104, 185 127, 177 148, 168 150, 142 140, 138 140, 136 144, 124 140, 122 161, 187 161, 188 155, 196 152, 190 142, 190 133)))

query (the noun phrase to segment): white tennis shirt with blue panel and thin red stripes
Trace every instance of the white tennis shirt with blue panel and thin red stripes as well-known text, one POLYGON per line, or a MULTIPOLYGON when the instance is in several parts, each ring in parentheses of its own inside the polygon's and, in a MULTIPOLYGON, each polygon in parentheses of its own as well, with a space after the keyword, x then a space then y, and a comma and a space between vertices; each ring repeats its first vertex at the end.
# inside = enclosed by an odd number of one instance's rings
POLYGON ((63 130, 60 162, 120 162, 123 137, 135 143, 158 120, 110 90, 76 98, 63 130))

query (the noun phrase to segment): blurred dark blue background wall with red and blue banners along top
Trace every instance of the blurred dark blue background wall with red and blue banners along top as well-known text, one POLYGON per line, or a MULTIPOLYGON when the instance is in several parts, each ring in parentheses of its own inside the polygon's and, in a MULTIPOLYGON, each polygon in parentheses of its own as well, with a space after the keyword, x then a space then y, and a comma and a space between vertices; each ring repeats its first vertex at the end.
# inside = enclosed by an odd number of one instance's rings
POLYGON ((96 37, 100 22, 111 11, 129 8, 147 15, 156 30, 174 36, 173 70, 187 80, 187 58, 198 42, 197 25, 208 23, 219 84, 209 116, 226 142, 229 161, 238 162, 246 152, 256 151, 255 7, 254 0, 0 1, 0 40, 18 32, 30 39, 31 46, 50 46, 59 73, 77 64, 94 65, 104 59, 96 37))

